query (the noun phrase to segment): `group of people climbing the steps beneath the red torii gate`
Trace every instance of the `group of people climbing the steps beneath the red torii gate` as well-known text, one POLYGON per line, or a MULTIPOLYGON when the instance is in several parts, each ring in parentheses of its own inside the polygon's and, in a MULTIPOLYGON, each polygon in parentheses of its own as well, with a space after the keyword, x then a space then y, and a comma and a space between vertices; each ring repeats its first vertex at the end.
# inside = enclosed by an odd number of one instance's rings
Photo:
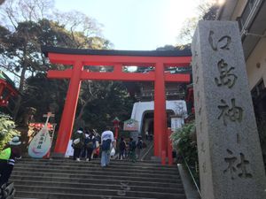
POLYGON ((95 130, 83 131, 82 128, 77 130, 73 135, 74 156, 73 159, 81 161, 84 157, 86 161, 90 161, 93 157, 101 157, 101 166, 106 167, 110 163, 111 155, 114 155, 115 149, 119 150, 118 159, 127 159, 136 162, 140 158, 143 149, 143 140, 138 136, 137 142, 132 137, 127 142, 123 137, 117 143, 113 138, 113 132, 106 128, 101 135, 95 130))

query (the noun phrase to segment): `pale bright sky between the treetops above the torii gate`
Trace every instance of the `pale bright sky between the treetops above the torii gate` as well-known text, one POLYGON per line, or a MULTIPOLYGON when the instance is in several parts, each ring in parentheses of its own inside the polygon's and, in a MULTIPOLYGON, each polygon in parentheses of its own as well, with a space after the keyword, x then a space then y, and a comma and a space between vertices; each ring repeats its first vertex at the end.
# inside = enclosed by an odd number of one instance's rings
POLYGON ((103 25, 115 50, 155 50, 175 45, 184 19, 202 0, 55 0, 59 11, 82 11, 103 25))

